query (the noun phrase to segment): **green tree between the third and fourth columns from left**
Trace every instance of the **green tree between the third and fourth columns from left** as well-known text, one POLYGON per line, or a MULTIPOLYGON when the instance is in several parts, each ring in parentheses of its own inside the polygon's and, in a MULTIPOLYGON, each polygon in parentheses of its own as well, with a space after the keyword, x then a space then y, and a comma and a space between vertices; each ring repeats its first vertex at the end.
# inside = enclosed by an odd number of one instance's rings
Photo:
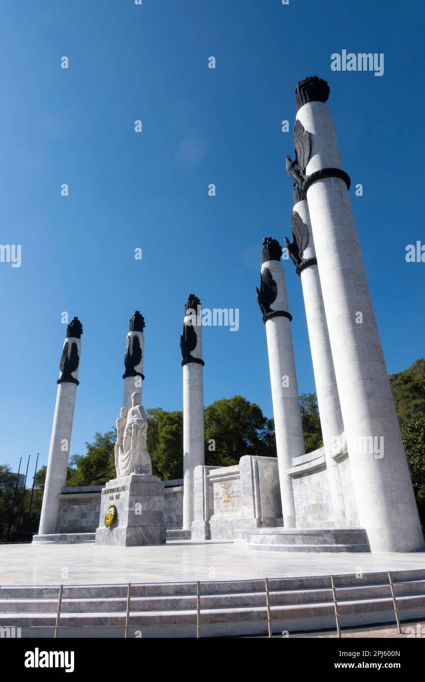
POLYGON ((244 455, 276 457, 272 420, 242 396, 216 400, 205 408, 205 463, 232 466, 244 455))

